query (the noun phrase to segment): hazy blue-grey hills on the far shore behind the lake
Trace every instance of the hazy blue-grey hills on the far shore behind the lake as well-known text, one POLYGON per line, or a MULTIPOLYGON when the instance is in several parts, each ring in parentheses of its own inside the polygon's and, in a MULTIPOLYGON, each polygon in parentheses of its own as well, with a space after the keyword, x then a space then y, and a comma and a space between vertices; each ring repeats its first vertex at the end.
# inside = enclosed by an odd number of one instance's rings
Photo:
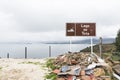
MULTIPOLYGON (((114 38, 104 38, 102 41, 104 44, 107 43, 114 43, 115 39, 114 38)), ((46 44, 69 44, 69 41, 52 41, 52 42, 44 42, 46 44)), ((72 44, 90 44, 91 41, 90 39, 85 39, 85 40, 74 40, 72 41, 72 44)), ((99 39, 94 38, 93 39, 93 44, 98 44, 99 39)))

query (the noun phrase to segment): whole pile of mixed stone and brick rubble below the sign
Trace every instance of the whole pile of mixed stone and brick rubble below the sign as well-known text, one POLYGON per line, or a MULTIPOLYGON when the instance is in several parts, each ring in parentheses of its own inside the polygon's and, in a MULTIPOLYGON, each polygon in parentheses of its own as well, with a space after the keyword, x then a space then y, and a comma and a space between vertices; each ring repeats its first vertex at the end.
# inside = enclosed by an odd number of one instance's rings
POLYGON ((58 67, 53 71, 57 80, 111 80, 111 69, 95 54, 67 53, 58 56, 54 65, 58 67))

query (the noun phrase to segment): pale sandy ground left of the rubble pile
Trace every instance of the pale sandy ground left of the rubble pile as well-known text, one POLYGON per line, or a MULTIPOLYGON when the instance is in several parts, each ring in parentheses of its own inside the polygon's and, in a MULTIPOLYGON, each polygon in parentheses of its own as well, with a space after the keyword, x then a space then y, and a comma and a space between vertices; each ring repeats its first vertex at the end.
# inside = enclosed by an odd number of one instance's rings
POLYGON ((48 73, 47 68, 43 67, 45 61, 46 59, 0 59, 0 80, 44 80, 48 73))

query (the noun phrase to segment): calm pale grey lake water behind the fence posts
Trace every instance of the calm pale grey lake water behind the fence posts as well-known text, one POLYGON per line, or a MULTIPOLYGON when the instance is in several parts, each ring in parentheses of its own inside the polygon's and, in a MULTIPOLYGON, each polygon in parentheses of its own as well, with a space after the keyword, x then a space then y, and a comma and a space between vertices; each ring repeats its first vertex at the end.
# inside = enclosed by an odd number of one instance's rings
MULTIPOLYGON (((51 56, 55 57, 69 51, 69 44, 0 44, 0 57, 6 58, 9 53, 10 58, 24 58, 25 47, 27 47, 28 58, 49 57, 49 46, 51 46, 51 56)), ((71 51, 79 52, 90 44, 72 44, 71 51)))

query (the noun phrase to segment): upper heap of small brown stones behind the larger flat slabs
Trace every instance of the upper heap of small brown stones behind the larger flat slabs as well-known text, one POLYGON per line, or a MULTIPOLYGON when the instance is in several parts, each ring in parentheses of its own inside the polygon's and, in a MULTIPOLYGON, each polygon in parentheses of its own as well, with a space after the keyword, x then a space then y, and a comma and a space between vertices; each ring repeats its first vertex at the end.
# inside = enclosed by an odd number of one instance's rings
POLYGON ((74 52, 74 53, 66 53, 64 55, 60 55, 56 58, 55 63, 57 65, 76 65, 81 64, 88 66, 92 62, 98 62, 96 56, 92 55, 90 53, 80 53, 80 52, 74 52))

